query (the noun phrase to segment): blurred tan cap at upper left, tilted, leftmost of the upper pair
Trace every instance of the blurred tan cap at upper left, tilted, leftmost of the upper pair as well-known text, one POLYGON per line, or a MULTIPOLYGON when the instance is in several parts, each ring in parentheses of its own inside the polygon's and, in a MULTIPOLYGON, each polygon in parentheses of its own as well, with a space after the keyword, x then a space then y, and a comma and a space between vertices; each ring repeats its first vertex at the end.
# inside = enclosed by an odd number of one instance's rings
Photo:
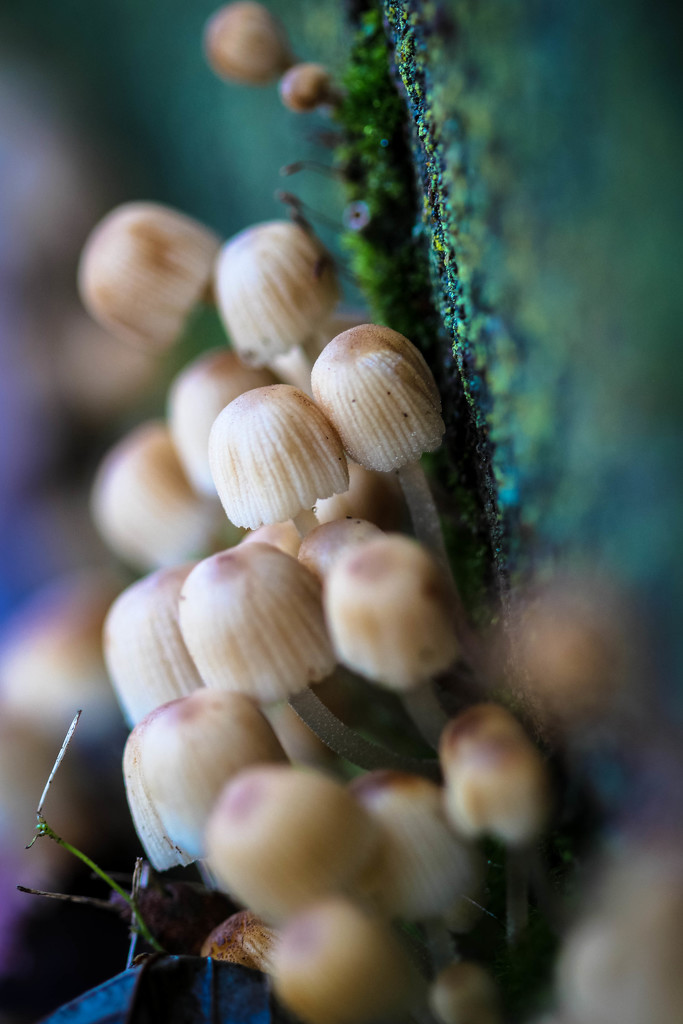
POLYGON ((86 309, 123 341, 162 351, 211 281, 220 240, 156 203, 112 210, 88 238, 78 284, 86 309))

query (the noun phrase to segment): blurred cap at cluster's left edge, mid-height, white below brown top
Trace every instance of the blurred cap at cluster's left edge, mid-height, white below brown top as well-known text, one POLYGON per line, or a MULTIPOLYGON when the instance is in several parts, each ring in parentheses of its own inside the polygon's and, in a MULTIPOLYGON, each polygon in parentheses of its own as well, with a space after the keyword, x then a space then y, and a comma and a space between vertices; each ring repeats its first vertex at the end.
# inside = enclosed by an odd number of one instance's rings
POLYGON ((220 522, 218 503, 193 490, 167 427, 156 421, 131 431, 105 456, 91 507, 110 548, 143 570, 210 550, 220 522))

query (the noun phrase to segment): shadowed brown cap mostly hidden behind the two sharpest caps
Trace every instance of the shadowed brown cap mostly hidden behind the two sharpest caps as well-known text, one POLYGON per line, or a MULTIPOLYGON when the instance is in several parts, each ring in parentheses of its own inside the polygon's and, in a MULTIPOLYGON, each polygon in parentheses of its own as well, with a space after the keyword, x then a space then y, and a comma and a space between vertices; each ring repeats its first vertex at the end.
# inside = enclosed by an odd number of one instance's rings
POLYGON ((323 525, 335 519, 367 519, 385 531, 400 529, 405 508, 394 474, 348 463, 348 490, 315 502, 315 518, 323 525))

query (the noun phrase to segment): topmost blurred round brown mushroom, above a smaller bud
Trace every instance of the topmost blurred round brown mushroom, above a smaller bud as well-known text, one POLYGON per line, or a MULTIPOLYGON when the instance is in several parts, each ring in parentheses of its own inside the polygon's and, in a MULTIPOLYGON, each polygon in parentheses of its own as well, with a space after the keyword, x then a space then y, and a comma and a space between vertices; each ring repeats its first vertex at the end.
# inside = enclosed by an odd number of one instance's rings
POLYGON ((241 0, 220 7, 207 23, 204 50, 219 78, 267 85, 294 57, 285 29, 260 3, 241 0))

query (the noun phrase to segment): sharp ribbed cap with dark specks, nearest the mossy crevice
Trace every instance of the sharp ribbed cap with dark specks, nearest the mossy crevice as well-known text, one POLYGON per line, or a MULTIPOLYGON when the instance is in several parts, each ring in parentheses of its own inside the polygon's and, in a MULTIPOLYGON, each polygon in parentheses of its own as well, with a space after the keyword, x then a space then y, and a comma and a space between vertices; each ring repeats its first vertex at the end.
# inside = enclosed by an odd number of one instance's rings
POLYGON ((315 401, 354 462, 388 472, 441 443, 441 399, 423 355, 387 327, 337 335, 311 373, 315 401))

